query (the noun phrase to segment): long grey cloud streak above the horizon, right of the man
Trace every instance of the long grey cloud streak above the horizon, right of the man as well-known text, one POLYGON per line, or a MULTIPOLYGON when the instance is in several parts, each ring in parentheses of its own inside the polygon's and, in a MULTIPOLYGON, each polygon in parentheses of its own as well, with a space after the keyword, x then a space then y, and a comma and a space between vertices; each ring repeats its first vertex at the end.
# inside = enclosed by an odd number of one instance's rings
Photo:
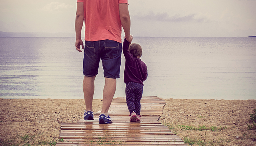
POLYGON ((195 14, 190 14, 186 16, 169 16, 167 12, 154 14, 153 11, 150 11, 146 15, 137 14, 134 16, 135 19, 138 20, 146 20, 146 21, 160 21, 160 22, 204 22, 204 18, 197 18, 195 14))

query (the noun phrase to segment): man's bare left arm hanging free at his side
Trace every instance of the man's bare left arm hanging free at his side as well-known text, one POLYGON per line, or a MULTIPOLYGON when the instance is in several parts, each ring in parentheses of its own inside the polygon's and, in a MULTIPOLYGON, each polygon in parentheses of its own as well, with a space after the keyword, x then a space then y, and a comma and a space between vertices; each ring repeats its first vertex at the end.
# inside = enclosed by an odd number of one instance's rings
POLYGON ((84 49, 84 43, 81 39, 81 31, 84 24, 84 3, 79 2, 77 3, 77 9, 76 9, 76 22, 75 22, 75 30, 76 30, 76 50, 79 52, 82 52, 80 50, 80 46, 82 46, 82 49, 84 49))

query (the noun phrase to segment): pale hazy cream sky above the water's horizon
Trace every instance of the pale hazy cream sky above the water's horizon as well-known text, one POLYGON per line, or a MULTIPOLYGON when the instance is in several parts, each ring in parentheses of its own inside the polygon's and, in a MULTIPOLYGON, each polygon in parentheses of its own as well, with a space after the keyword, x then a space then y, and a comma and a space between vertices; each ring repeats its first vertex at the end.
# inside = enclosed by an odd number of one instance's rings
MULTIPOLYGON (((256 0, 128 0, 134 37, 256 35, 256 0)), ((0 0, 0 31, 74 33, 76 0, 0 0)))

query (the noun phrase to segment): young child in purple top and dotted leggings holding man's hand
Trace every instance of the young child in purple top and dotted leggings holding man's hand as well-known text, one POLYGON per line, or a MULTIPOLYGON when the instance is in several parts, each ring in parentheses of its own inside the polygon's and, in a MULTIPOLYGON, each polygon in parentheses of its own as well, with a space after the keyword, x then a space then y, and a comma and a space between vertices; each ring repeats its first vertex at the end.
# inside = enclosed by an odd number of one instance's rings
POLYGON ((139 44, 124 39, 122 47, 125 57, 124 83, 126 103, 131 115, 130 121, 140 121, 140 100, 143 92, 143 82, 147 79, 147 65, 140 60, 142 48, 139 44))

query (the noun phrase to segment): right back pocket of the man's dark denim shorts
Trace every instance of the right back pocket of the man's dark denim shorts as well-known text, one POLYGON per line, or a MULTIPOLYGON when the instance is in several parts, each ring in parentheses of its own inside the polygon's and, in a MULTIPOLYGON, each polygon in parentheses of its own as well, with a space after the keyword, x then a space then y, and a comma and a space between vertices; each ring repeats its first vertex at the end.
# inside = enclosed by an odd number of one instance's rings
POLYGON ((119 43, 104 43, 106 55, 109 58, 115 58, 118 55, 119 43))

